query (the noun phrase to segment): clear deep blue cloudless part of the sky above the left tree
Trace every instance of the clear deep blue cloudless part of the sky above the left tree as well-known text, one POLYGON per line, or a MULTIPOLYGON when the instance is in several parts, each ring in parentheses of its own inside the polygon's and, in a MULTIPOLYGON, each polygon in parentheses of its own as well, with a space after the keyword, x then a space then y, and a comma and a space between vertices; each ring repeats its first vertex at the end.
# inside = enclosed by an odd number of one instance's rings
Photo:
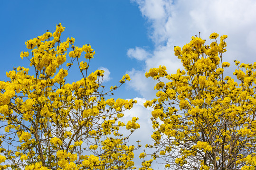
MULTIPOLYGON (((0 6, 0 30, 5 40, 0 45, 1 80, 7 80, 2 73, 14 66, 28 67, 28 60, 19 58, 20 51, 27 51, 25 42, 47 30, 54 32, 58 23, 66 27, 62 34, 64 41, 67 37, 74 37, 77 46, 91 44, 96 55, 91 61, 90 71, 107 68, 112 77, 106 82, 108 86, 118 85, 127 70, 142 68, 142 62, 126 55, 128 49, 134 46, 152 48, 145 18, 138 6, 129 0, 16 0, 1 1, 0 6)), ((71 82, 78 80, 76 75, 71 77, 71 82)), ((117 93, 121 95, 121 91, 117 93)), ((122 97, 133 98, 137 95, 133 91, 122 97)))

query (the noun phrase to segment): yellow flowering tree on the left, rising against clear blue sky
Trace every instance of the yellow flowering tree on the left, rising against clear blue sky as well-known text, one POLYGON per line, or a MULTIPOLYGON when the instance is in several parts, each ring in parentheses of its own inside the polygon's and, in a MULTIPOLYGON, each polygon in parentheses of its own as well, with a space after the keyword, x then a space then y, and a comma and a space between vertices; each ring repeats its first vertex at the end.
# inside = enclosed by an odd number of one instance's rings
MULTIPOLYGON (((105 99, 118 87, 105 92, 104 70, 88 70, 95 51, 89 44, 75 46, 74 38, 62 42, 64 29, 58 24, 53 34, 47 31, 26 42, 29 52, 20 57, 29 60, 35 75, 18 67, 6 73, 10 81, 0 81, 0 168, 132 169, 133 151, 140 145, 129 145, 128 138, 140 125, 137 118, 127 124, 119 119, 136 101, 105 99), (73 64, 81 79, 69 84, 66 76, 73 64), (121 127, 129 130, 126 136, 121 127)), ((128 75, 121 85, 126 80, 128 75)))

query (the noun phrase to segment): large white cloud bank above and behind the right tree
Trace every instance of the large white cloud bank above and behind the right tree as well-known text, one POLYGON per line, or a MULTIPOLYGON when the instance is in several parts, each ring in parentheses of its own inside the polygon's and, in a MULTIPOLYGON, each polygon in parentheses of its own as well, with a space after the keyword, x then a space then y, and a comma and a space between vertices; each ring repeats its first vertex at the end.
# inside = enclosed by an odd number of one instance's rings
MULTIPOLYGON (((145 78, 150 68, 164 65, 169 74, 182 68, 180 60, 174 56, 173 46, 182 47, 190 42, 191 36, 199 35, 209 44, 209 35, 216 32, 227 34, 227 52, 224 61, 231 67, 227 70, 232 75, 235 67, 233 60, 251 63, 256 55, 256 1, 255 0, 131 0, 135 2, 142 16, 150 23, 149 36, 154 42, 151 51, 139 49, 141 57, 133 58, 144 61, 142 70, 129 70, 131 81, 128 85, 143 97, 151 99, 155 96, 153 83, 145 78), (144 57, 147 56, 147 57, 144 57)), ((127 52, 129 56, 129 52, 127 52)), ((139 54, 139 52, 137 53, 139 54)), ((130 56, 131 57, 131 56, 130 56)))

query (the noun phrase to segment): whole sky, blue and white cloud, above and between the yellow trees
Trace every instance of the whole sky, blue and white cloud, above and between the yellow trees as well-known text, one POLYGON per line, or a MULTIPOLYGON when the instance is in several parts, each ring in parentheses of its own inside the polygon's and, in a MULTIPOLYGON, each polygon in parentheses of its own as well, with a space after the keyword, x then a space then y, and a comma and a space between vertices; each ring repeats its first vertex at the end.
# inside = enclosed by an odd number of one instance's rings
MULTIPOLYGON (((225 72, 231 76, 233 60, 256 61, 255 9, 255 0, 2 0, 0 80, 7 80, 5 72, 12 67, 28 67, 28 61, 19 58, 20 51, 27 51, 25 42, 46 30, 54 32, 60 22, 66 27, 63 40, 74 37, 77 46, 92 45, 96 55, 91 71, 109 70, 105 86, 118 85, 129 73, 131 82, 114 97, 138 101, 124 114, 126 120, 140 118, 141 128, 130 139, 140 139, 143 145, 152 141, 151 110, 143 102, 156 93, 156 82, 145 78, 145 72, 165 65, 170 74, 175 73, 182 67, 174 45, 182 47, 199 32, 210 44, 209 35, 217 32, 228 35, 223 60, 231 63, 225 72)), ((76 72, 69 74, 69 81, 80 78, 76 72)))

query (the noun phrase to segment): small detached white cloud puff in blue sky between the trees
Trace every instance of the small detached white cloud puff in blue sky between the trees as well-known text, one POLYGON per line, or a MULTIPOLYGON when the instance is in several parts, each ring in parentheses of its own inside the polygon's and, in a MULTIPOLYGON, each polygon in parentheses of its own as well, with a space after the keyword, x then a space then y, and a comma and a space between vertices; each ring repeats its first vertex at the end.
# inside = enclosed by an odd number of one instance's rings
POLYGON ((147 59, 151 54, 142 49, 141 47, 135 47, 135 49, 129 49, 127 51, 127 55, 130 58, 144 60, 147 59))

